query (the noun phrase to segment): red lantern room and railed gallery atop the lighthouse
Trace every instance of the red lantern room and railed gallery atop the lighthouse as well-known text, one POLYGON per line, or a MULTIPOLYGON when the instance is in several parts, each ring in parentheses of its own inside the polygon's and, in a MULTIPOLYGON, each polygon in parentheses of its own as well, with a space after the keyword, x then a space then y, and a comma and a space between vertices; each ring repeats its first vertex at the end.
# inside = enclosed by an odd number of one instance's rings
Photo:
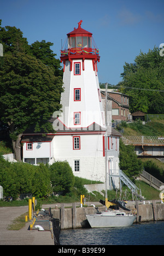
POLYGON ((78 28, 67 34, 68 37, 68 48, 61 50, 61 62, 63 61, 64 67, 63 72, 65 72, 66 60, 71 62, 70 71, 72 71, 72 60, 82 59, 83 60, 83 71, 85 70, 84 60, 92 59, 93 70, 97 72, 97 61, 99 62, 99 51, 93 43, 92 33, 81 28, 80 20, 78 22, 78 28), (92 45, 94 45, 92 48, 92 45))

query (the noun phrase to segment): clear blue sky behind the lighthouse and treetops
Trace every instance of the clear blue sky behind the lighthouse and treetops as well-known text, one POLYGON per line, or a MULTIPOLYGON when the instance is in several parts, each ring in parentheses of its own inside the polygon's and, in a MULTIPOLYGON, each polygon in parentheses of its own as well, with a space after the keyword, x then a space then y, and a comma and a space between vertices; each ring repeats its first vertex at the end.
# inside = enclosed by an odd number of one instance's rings
POLYGON ((164 43, 164 0, 0 0, 0 19, 20 28, 29 44, 54 43, 58 59, 61 39, 83 20, 99 49, 101 83, 118 84, 125 62, 164 43))

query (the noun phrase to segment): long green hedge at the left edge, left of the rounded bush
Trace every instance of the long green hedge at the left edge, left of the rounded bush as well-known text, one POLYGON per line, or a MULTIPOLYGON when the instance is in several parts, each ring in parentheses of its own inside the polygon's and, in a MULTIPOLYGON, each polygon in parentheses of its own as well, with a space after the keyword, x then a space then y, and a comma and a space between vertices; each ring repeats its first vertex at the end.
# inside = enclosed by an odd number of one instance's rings
POLYGON ((45 197, 50 191, 50 171, 48 166, 33 166, 22 162, 10 163, 0 158, 0 182, 4 196, 17 199, 20 194, 32 193, 45 197))

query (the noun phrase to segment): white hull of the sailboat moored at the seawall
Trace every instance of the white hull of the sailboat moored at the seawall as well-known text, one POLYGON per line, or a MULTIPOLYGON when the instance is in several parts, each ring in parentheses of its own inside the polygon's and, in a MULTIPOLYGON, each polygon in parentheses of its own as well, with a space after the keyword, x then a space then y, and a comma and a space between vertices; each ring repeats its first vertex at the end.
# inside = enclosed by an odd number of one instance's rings
POLYGON ((115 228, 121 226, 131 226, 136 216, 102 216, 101 214, 86 214, 86 218, 91 228, 115 228))

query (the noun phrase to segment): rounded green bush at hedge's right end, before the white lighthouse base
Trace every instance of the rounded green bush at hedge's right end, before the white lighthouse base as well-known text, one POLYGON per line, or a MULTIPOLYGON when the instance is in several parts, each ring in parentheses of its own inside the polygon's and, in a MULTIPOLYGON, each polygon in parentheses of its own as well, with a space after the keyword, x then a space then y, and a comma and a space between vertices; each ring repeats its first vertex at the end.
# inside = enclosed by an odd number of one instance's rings
POLYGON ((51 183, 54 193, 64 195, 74 187, 74 175, 67 161, 57 161, 50 165, 51 183))

